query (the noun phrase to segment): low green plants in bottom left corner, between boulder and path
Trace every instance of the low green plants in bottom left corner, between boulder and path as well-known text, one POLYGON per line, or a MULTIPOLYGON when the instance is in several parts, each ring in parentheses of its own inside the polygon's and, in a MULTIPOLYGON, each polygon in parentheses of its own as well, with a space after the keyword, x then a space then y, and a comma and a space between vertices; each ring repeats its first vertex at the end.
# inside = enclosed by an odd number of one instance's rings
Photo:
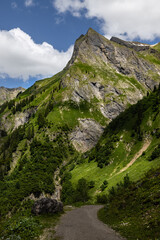
POLYGON ((19 210, 0 222, 0 239, 28 240, 39 239, 44 228, 53 228, 60 214, 35 216, 31 214, 34 201, 23 201, 19 210))

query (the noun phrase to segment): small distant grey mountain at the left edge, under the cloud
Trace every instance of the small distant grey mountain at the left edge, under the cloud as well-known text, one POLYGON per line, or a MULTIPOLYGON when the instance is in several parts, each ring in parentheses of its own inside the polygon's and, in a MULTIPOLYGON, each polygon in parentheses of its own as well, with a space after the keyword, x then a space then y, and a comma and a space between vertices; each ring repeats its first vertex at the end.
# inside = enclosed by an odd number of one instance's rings
POLYGON ((24 92, 25 89, 22 87, 19 88, 5 88, 0 87, 0 105, 2 105, 6 101, 10 101, 17 97, 19 93, 24 92))

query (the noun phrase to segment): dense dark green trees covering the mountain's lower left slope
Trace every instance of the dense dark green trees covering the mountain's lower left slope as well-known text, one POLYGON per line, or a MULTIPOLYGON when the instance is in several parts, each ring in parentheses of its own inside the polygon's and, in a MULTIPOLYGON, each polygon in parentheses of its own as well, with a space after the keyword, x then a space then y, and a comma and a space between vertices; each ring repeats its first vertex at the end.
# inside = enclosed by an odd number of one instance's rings
POLYGON ((65 145, 57 139, 44 143, 36 138, 30 144, 30 158, 24 155, 10 176, 0 184, 0 214, 18 208, 31 193, 36 197, 42 192, 54 192, 53 173, 63 160, 65 145), (6 204, 7 199, 7 204, 6 204))

